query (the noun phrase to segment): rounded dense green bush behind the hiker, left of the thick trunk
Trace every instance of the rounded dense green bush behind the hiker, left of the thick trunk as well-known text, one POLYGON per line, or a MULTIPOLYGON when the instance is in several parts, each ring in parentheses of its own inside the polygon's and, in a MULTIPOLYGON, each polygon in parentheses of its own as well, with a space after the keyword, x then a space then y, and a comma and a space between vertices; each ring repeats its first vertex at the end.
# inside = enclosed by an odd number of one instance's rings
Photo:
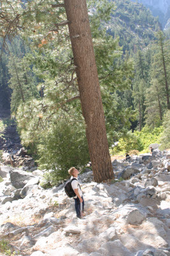
MULTIPOLYGON (((38 145, 39 168, 50 170, 45 180, 55 185, 68 177, 71 166, 82 168, 89 162, 89 150, 82 124, 66 120, 48 131, 38 145)), ((48 184, 49 184, 48 183, 48 184)))

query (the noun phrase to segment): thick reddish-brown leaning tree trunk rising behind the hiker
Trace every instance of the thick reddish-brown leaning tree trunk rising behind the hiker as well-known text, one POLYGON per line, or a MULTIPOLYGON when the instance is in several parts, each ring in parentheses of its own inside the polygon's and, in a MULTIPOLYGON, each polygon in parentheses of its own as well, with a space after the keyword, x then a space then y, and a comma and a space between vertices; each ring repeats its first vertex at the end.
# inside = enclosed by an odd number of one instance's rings
POLYGON ((94 180, 113 179, 86 0, 64 0, 94 180))

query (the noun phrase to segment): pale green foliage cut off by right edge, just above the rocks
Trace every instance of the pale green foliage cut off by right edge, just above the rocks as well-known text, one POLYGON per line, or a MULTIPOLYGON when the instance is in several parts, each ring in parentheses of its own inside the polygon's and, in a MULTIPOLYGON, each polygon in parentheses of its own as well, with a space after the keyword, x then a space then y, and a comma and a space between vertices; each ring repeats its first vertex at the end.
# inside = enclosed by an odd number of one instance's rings
POLYGON ((160 142, 162 143, 161 148, 170 148, 170 110, 164 115, 163 129, 160 142))

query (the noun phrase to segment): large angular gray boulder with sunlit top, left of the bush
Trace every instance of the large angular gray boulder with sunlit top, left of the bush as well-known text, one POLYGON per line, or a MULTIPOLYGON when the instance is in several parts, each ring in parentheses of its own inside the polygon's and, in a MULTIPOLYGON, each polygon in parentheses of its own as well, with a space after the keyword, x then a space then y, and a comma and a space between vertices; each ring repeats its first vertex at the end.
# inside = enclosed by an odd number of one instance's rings
POLYGON ((32 173, 24 172, 19 168, 10 170, 11 184, 17 189, 24 188, 25 184, 33 178, 35 176, 32 173))

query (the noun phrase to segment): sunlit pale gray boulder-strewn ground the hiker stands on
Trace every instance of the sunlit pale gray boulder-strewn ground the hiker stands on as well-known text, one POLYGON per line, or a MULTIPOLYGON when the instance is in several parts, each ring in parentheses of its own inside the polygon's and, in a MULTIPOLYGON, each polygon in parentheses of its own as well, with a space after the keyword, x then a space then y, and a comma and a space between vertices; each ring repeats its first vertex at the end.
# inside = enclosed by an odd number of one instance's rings
POLYGON ((40 170, 1 166, 0 238, 20 256, 169 256, 170 151, 115 160, 113 170, 124 180, 80 174, 80 220, 64 184, 45 190, 40 170))

